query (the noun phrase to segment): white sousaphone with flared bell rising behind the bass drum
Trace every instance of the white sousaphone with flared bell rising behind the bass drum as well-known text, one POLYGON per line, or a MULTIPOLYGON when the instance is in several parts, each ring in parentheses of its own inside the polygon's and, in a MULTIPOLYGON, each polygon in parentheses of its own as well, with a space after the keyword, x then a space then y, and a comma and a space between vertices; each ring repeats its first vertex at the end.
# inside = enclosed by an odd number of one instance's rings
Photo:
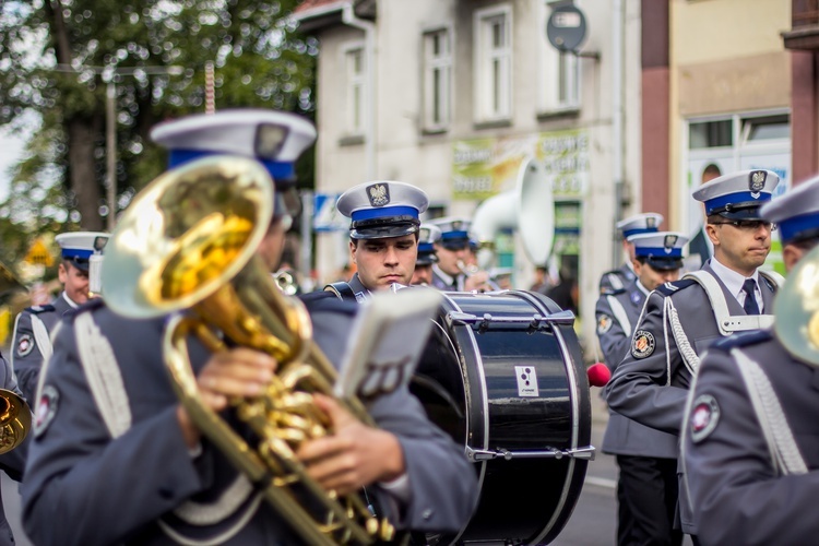
POLYGON ((521 162, 513 190, 480 203, 472 219, 472 233, 480 244, 478 264, 488 269, 495 237, 501 229, 517 230, 532 263, 545 265, 555 239, 555 200, 543 162, 527 157, 521 162))

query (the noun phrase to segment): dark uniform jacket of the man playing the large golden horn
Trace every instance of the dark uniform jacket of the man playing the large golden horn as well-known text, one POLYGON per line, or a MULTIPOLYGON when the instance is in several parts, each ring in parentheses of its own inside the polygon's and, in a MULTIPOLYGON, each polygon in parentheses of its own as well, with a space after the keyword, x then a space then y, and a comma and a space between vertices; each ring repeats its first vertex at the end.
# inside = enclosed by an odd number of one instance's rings
MULTIPOLYGON (((311 313, 313 337, 337 363, 355 312, 340 305, 356 306, 330 301, 311 313)), ((210 441, 202 440, 201 453, 189 452, 161 351, 163 331, 164 319, 124 319, 102 301, 63 322, 22 486, 27 534, 44 546, 173 544, 177 534, 232 545, 301 544, 266 502, 241 487, 233 465, 210 441), (131 414, 130 427, 114 437, 80 357, 76 335, 88 323, 84 314, 116 356, 127 400, 111 402, 131 414)), ((195 340, 189 348, 198 372, 207 354, 195 340)), ((114 381, 106 377, 102 384, 114 381)), ((401 513, 380 486, 367 488, 381 500, 381 514, 399 529, 461 529, 475 506, 477 484, 460 449, 405 389, 377 400, 370 413, 399 437, 410 477, 411 500, 401 513)))

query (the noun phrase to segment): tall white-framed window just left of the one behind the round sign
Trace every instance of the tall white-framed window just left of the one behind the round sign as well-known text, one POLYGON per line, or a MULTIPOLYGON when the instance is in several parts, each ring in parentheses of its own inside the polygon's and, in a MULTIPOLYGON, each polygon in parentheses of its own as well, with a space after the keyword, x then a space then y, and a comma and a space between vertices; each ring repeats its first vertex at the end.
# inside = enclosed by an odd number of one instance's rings
POLYGON ((508 4, 475 12, 475 118, 512 114, 512 11, 508 4))

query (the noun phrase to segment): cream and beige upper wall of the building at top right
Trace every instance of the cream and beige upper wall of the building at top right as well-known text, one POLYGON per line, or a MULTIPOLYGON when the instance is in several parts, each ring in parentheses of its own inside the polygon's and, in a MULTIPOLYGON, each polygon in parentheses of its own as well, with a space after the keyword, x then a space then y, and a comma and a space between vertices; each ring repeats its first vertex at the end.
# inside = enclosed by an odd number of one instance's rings
POLYGON ((699 183, 688 174, 686 120, 790 109, 791 55, 780 33, 791 27, 791 2, 672 0, 670 7, 670 224, 682 228, 699 183))

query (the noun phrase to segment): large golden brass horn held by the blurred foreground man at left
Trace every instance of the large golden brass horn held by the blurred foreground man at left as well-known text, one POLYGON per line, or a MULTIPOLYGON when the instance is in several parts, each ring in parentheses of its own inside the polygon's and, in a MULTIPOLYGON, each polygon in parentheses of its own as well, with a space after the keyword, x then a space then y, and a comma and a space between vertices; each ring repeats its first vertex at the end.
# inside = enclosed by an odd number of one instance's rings
MULTIPOLYGON (((282 293, 256 256, 272 203, 273 181, 250 159, 212 156, 166 173, 131 203, 106 247, 106 301, 134 318, 192 311, 176 313, 166 327, 164 354, 174 389, 203 434, 261 486, 306 543, 390 541, 394 529, 387 520, 373 518, 355 494, 325 491, 295 456, 305 440, 330 432, 310 393, 332 395, 336 372, 311 343, 304 305, 282 293), (223 351, 216 331, 278 360, 264 394, 232 401, 261 439, 257 449, 199 395, 186 339, 194 334, 212 351, 223 351), (307 491, 306 506, 295 489, 307 491)), ((360 401, 341 402, 372 424, 360 401)))

